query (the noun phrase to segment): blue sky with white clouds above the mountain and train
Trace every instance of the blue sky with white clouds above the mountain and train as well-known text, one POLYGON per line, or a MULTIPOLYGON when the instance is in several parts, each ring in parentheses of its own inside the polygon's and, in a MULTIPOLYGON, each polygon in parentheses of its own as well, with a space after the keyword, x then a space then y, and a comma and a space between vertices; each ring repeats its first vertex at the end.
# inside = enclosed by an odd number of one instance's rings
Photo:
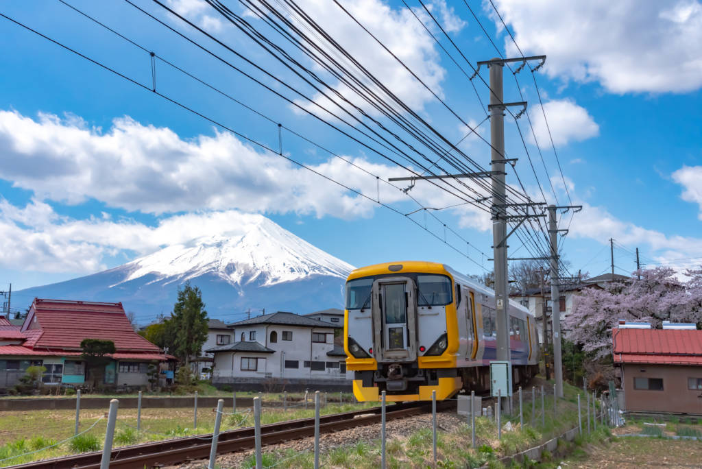
MULTIPOLYGON (((406 0, 453 58, 468 70, 418 0, 406 0)), ((381 178, 407 176, 390 161, 341 136, 222 62, 206 55, 124 1, 67 0, 162 58, 196 74, 232 97, 270 116, 267 121, 157 61, 159 92, 171 96, 246 137, 277 150, 280 122, 381 178)), ((227 20, 199 0, 166 2, 232 48, 298 87, 314 91, 227 20)), ((243 13, 238 2, 225 2, 243 13)), ((298 2, 335 39, 442 135, 457 142, 465 127, 416 79, 331 1, 298 2)), ((474 126, 486 115, 463 72, 426 34, 402 1, 340 2, 406 65, 474 126)), ((157 18, 197 39, 232 64, 292 96, 281 84, 183 25, 151 1, 135 1, 157 18)), ((463 1, 424 1, 465 57, 475 65, 496 55, 463 1)), ((505 119, 505 152, 518 157, 517 174, 535 199, 583 204, 564 239, 571 270, 592 275, 609 268, 609 238, 617 242, 617 272, 642 262, 678 268, 702 260, 698 234, 702 206, 702 44, 698 1, 523 2, 494 4, 525 54, 546 54, 536 73, 564 178, 545 131, 531 72, 517 75, 529 102, 536 143, 520 119, 534 177, 515 124, 505 119), (545 166, 545 169, 544 169, 545 166), (553 195, 549 179, 554 186, 553 195)), ((516 50, 489 2, 468 1, 501 53, 516 50)), ((5 2, 4 15, 95 60, 152 86, 150 57, 55 0, 5 2)), ((287 14, 287 13, 286 13, 287 14)), ((268 32, 251 13, 244 18, 268 32)), ((237 232, 241 212, 263 213, 287 230, 352 265, 392 259, 425 259, 481 273, 490 265, 489 216, 470 206, 436 214, 463 239, 446 241, 402 215, 357 197, 271 152, 245 143, 201 117, 69 53, 0 18, 0 289, 70 279, 125 263, 162 246, 208 234, 237 232), (216 223, 215 223, 216 220, 216 223), (215 231, 218 231, 216 233, 215 231), (483 256, 483 253, 485 256, 483 256), (470 259, 463 254, 468 254, 470 259), (483 267, 484 266, 484 267, 483 267)), ((300 58, 300 57, 298 57, 300 58)), ((300 58, 306 66, 310 60, 300 58), (307 60, 307 62, 305 62, 307 60)), ((536 63, 532 63, 532 66, 536 63)), ((488 79, 486 70, 482 77, 488 79)), ((337 82, 326 77, 333 86, 337 82)), ((475 81, 485 103, 488 91, 475 81)), ((341 93, 346 91, 340 89, 341 93)), ((505 101, 519 100, 505 70, 505 101)), ((299 97, 298 97, 299 99, 299 97)), ((351 97, 352 100, 354 100, 351 97)), ((359 102, 355 100, 354 102, 359 102)), ((302 103, 314 109, 310 103, 302 103)), ((365 108, 364 108, 365 109, 365 108)), ((318 111, 314 111, 318 112, 318 111)), ((489 123, 479 128, 489 138, 489 123)), ((461 150, 487 166, 489 146, 475 136, 461 150)), ((285 132, 286 156, 376 198, 376 179, 319 147, 285 132)), ((517 186, 513 172, 508 183, 517 186)), ((461 202, 427 183, 409 194, 425 206, 461 202)), ((383 183, 382 202, 402 213, 418 206, 383 183)), ((423 225, 423 214, 415 220, 423 225)), ((441 223, 428 229, 444 237, 441 223)), ((562 227, 568 224, 564 216, 562 227)), ((510 240, 510 253, 529 250, 510 240)))

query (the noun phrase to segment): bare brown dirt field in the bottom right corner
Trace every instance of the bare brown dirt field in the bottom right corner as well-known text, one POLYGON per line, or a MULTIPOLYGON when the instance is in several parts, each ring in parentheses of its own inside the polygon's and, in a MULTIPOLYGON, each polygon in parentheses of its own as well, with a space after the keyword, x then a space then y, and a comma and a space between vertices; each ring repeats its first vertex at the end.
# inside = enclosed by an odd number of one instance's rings
POLYGON ((613 438, 609 444, 583 448, 562 461, 562 469, 702 468, 702 442, 661 438, 613 438))

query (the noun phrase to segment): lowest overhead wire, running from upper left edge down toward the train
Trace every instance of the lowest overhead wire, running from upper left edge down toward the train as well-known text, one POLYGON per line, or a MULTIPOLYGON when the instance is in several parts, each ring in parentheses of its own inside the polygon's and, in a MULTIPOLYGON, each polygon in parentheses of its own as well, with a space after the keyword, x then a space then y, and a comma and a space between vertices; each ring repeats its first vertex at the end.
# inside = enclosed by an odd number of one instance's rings
MULTIPOLYGON (((329 180, 329 181, 332 182, 332 183, 335 183, 336 185, 340 185, 341 187, 345 188, 346 190, 349 190, 350 192, 354 192, 355 194, 359 195, 360 197, 364 197, 365 199, 368 199, 368 200, 371 201, 371 202, 374 202, 374 203, 376 203, 376 204, 379 204, 380 206, 383 206, 383 207, 385 207, 386 209, 390 209, 391 211, 394 211, 395 213, 398 213, 399 215, 404 216, 404 213, 402 213, 401 211, 395 209, 394 207, 389 206, 388 204, 384 204, 383 202, 378 202, 378 201, 372 199, 371 197, 366 196, 365 194, 362 194, 362 192, 359 192, 359 191, 353 189, 352 187, 348 187, 347 185, 344 185, 343 183, 340 183, 340 182, 338 182, 338 181, 336 181, 336 180, 333 180, 333 178, 330 178, 329 176, 326 176, 326 175, 324 175, 323 173, 319 173, 319 171, 315 171, 314 169, 310 168, 309 166, 307 166, 307 165, 305 165, 305 164, 302 164, 302 163, 300 163, 300 162, 298 162, 298 161, 292 159, 291 157, 287 157, 286 155, 279 154, 279 152, 277 152, 276 150, 272 149, 271 147, 268 147, 267 145, 264 145, 264 144, 262 144, 262 143, 259 143, 259 142, 257 142, 256 140, 253 140, 253 139, 251 139, 251 138, 249 138, 249 137, 247 137, 247 136, 244 136, 243 134, 241 134, 241 133, 239 133, 239 132, 237 132, 237 131, 234 131, 232 128, 230 128, 230 127, 228 127, 228 126, 225 126, 224 124, 222 124, 222 123, 216 121, 215 119, 211 119, 210 117, 207 117, 206 115, 202 114, 201 112, 198 112, 197 110, 194 110, 194 109, 192 109, 191 107, 188 107, 188 106, 184 105, 183 103, 180 103, 178 100, 173 99, 173 98, 170 98, 168 95, 164 95, 163 93, 161 93, 161 92, 159 92, 159 91, 153 91, 152 88, 150 88, 149 86, 146 86, 146 85, 144 85, 144 84, 141 84, 140 82, 136 81, 135 79, 132 79, 131 77, 126 76, 126 74, 122 74, 121 72, 118 72, 117 70, 114 70, 114 69, 112 69, 111 67, 108 67, 107 65, 102 64, 102 63, 99 62, 98 60, 95 60, 95 59, 93 59, 93 58, 90 58, 90 57, 88 57, 87 55, 84 55, 83 53, 80 53, 79 51, 76 51, 74 48, 71 48, 71 47, 69 47, 69 46, 66 46, 65 44, 62 44, 62 43, 60 43, 59 41, 57 41, 57 40, 55 40, 55 39, 52 39, 51 37, 46 36, 46 34, 43 34, 43 33, 39 32, 39 31, 37 31, 36 29, 33 29, 32 27, 29 27, 29 26, 23 24, 22 22, 19 22, 18 20, 15 20, 15 19, 9 17, 8 15, 5 15, 4 13, 0 13, 0 16, 1 16, 2 18, 5 18, 6 20, 9 20, 9 21, 15 23, 15 25, 18 25, 18 26, 20 26, 20 27, 22 27, 22 28, 27 29, 29 32, 32 32, 32 33, 34 33, 34 34, 37 34, 39 37, 42 37, 42 38, 46 39, 47 41, 50 41, 51 43, 53 43, 53 44, 55 44, 55 45, 57 45, 57 46, 60 46, 61 48, 64 48, 65 50, 67 50, 67 51, 69 51, 69 52, 71 52, 71 53, 74 53, 75 55, 78 55, 79 57, 83 58, 84 60, 88 60, 89 62, 93 63, 94 65, 98 65, 98 67, 101 67, 103 70, 107 70, 107 71, 109 71, 109 72, 112 72, 113 74, 117 75, 118 77, 121 77, 122 79, 125 79, 126 81, 129 81, 129 82, 131 82, 132 84, 135 84, 136 86, 138 86, 138 87, 140 87, 140 88, 143 88, 143 89, 149 91, 150 93, 154 93, 155 95, 158 95, 159 97, 161 97, 161 98, 167 100, 168 102, 173 103, 174 105, 176 105, 176 106, 178 106, 178 107, 181 107, 183 110, 186 110, 186 111, 188 111, 188 112, 191 112, 192 114, 196 114, 197 116, 201 117, 202 119, 206 119, 207 121, 211 122, 211 124, 214 124, 214 125, 216 125, 216 126, 218 126, 218 127, 220 127, 220 128, 223 128, 223 129, 225 129, 226 131, 229 131, 229 132, 233 133, 234 135, 236 135, 236 136, 238 136, 238 137, 240 137, 240 138, 244 138, 245 140, 249 141, 249 142, 252 143, 253 145, 257 145, 258 147, 263 148, 263 150, 266 150, 266 151, 268 151, 268 152, 272 152, 273 154, 276 154, 276 155, 278 155, 279 157, 282 157, 282 158, 284 158, 284 159, 290 161, 291 163, 296 164, 297 166, 302 167, 303 169, 307 169, 308 171, 311 171, 312 173, 315 173, 315 174, 317 174, 318 176, 320 176, 320 177, 322 177, 322 178, 325 178, 326 180, 329 180)), ((408 217, 405 217, 405 218, 408 218, 408 217)), ((479 263, 477 263, 477 261, 473 260, 472 258, 470 258, 469 256, 467 256, 465 253, 463 253, 463 251, 461 251, 461 249, 458 249, 458 248, 456 248, 456 246, 453 246, 453 245, 450 244, 449 242, 446 242, 446 240, 442 239, 442 237, 440 237, 438 234, 436 234, 435 232, 432 232, 431 230, 428 230, 426 227, 423 227, 422 225, 420 225, 420 223, 416 222, 416 220, 412 220, 411 218, 409 218, 409 219, 410 219, 413 223, 415 223, 418 227, 422 228, 423 230, 425 230, 426 232, 428 232, 429 234, 431 234, 433 237, 437 238, 440 242, 443 242, 444 244, 446 244, 446 246, 449 246, 451 249, 453 249, 454 251, 456 251, 457 253, 459 253, 461 256, 463 256, 463 257, 465 257, 465 258, 468 258, 468 260, 470 260, 472 263, 475 263, 475 265, 477 265, 478 267, 481 267, 482 269, 484 269, 484 267, 482 267, 482 265, 480 265, 479 263)))

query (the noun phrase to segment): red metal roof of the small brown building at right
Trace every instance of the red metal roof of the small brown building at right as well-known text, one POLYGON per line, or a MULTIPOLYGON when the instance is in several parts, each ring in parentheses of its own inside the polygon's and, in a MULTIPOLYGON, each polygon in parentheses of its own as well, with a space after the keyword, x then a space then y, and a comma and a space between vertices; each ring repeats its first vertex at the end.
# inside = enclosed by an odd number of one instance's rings
POLYGON ((614 328, 612 337, 615 363, 702 366, 702 331, 614 328))

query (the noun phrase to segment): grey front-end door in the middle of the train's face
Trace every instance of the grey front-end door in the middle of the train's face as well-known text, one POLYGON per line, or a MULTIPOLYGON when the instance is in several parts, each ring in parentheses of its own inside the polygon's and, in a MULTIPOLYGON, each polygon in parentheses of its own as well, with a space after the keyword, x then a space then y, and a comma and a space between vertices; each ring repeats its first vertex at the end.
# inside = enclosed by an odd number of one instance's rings
POLYGON ((373 329, 379 361, 416 359, 416 301, 414 282, 407 277, 373 282, 373 329), (380 348, 377 347, 380 344, 380 348))

